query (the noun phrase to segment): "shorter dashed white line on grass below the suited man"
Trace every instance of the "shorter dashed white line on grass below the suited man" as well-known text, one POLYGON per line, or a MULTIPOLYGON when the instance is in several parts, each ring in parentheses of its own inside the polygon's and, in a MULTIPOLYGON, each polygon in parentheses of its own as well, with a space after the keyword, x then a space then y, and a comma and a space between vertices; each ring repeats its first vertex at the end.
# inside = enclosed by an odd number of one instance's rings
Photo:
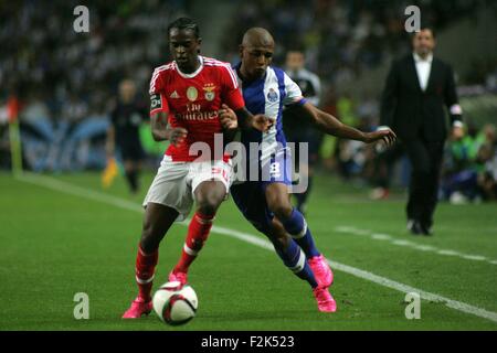
POLYGON ((444 256, 456 256, 456 257, 464 258, 466 260, 486 261, 491 265, 497 265, 497 260, 489 259, 482 255, 462 254, 459 252, 450 250, 450 249, 438 249, 432 245, 421 245, 421 244, 416 244, 416 243, 410 242, 410 240, 396 239, 395 237, 393 237, 389 234, 373 233, 372 231, 359 229, 359 228, 351 227, 351 226, 338 226, 338 227, 335 227, 335 231, 339 232, 339 233, 367 236, 374 240, 387 240, 393 245, 406 246, 406 247, 411 247, 413 249, 421 250, 421 252, 430 252, 430 253, 435 253, 437 255, 444 255, 444 256))

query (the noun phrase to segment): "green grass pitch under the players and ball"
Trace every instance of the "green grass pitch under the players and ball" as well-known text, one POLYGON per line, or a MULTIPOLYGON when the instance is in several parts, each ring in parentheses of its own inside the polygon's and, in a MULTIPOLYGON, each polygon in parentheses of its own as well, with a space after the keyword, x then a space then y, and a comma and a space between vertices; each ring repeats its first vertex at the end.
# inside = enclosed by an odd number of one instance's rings
MULTIPOLYGON (((152 176, 141 178, 144 193, 152 176)), ((0 174, 3 331, 497 329, 496 320, 478 314, 484 310, 495 318, 497 312, 495 204, 441 204, 434 237, 408 234, 401 193, 370 202, 366 190, 320 174, 309 204, 308 224, 327 258, 463 302, 476 313, 422 300, 421 319, 408 320, 404 292, 339 269, 331 287, 338 311, 320 313, 307 284, 273 252, 213 232, 190 269, 198 314, 188 324, 171 328, 154 313, 120 319, 137 292, 134 264, 141 213, 138 206, 123 208, 118 203, 138 205, 141 199, 131 199, 120 178, 106 191, 97 173, 42 176, 54 181, 51 188, 39 179, 29 182, 0 174), (56 190, 61 182, 88 193, 56 190), (109 199, 115 204, 106 202, 106 195, 117 197, 109 199), (88 320, 73 315, 77 292, 88 295, 88 320)), ((231 200, 222 205, 215 225, 264 238, 231 200)), ((175 225, 162 242, 155 288, 166 281, 178 259, 186 229, 175 225)))

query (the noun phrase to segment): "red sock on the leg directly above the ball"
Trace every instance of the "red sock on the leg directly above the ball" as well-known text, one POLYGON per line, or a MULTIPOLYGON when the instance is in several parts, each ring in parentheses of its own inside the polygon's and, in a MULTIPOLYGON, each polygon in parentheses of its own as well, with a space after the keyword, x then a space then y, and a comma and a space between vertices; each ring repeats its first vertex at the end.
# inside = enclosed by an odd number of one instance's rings
POLYGON ((209 232, 212 228, 214 215, 205 216, 195 212, 193 218, 188 226, 187 240, 184 242, 181 258, 176 265, 173 272, 188 272, 188 268, 199 254, 205 243, 209 232))

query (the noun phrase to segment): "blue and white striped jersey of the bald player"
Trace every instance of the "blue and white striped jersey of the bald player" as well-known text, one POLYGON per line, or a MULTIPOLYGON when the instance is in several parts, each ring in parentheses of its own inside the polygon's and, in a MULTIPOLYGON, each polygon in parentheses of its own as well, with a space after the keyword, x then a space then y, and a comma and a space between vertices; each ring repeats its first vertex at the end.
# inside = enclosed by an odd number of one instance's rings
POLYGON ((283 132, 283 108, 292 104, 305 104, 306 99, 302 95, 298 85, 281 68, 268 66, 264 77, 243 82, 240 77, 240 66, 235 66, 235 72, 240 86, 242 87, 245 107, 252 114, 264 114, 274 118, 275 125, 267 131, 261 132, 255 129, 242 132, 242 143, 248 150, 250 142, 262 143, 261 161, 275 154, 278 149, 286 147, 286 139, 283 132))

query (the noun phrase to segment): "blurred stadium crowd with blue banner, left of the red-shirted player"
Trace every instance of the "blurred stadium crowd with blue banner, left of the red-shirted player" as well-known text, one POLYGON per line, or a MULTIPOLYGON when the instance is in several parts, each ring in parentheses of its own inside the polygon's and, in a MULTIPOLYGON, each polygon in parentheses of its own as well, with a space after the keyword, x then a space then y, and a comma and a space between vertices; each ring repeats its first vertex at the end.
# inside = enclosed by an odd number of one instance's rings
MULTIPOLYGON (((170 21, 188 11, 183 0, 86 1, 89 32, 76 33, 76 6, 75 1, 0 4, 0 116, 7 120, 8 99, 17 96, 23 145, 30 150, 24 162, 38 171, 105 164, 105 131, 118 83, 131 78, 142 99, 148 98, 150 68, 168 53, 167 42, 157 33, 165 33, 170 21)), ((8 132, 0 126, 6 168, 8 132)))

